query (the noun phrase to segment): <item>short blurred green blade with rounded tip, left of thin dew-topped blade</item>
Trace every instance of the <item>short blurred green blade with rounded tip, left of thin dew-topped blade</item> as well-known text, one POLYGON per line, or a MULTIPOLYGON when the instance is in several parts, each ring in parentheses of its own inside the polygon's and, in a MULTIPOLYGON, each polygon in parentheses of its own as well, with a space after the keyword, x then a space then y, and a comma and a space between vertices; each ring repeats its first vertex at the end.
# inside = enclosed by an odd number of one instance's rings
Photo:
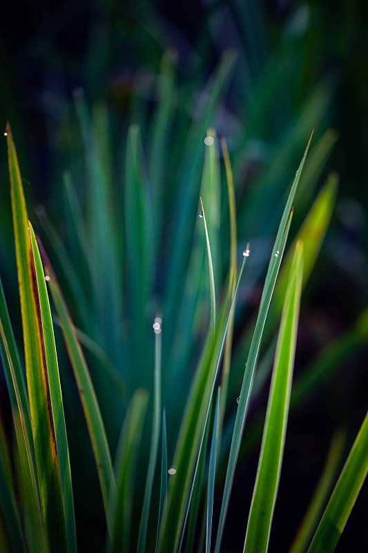
POLYGON ((110 552, 130 551, 130 527, 135 487, 137 454, 142 437, 148 392, 135 391, 124 419, 117 446, 115 478, 117 491, 110 496, 110 525, 112 527, 110 552))

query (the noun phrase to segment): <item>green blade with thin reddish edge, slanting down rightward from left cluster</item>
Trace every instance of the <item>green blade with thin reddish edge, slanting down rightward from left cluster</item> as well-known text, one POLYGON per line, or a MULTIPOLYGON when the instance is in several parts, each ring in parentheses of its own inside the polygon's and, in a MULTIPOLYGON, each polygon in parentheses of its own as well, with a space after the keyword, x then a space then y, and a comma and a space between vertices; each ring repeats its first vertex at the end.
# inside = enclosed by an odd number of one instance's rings
POLYGON ((48 281, 48 285, 52 295, 52 300, 60 320, 66 349, 68 350, 72 371, 75 376, 75 382, 77 383, 79 397, 81 399, 84 416, 86 418, 90 442, 92 444, 93 454, 96 461, 97 474, 99 477, 99 485, 101 487, 106 519, 108 520, 108 498, 110 494, 110 487, 115 487, 115 478, 104 422, 101 417, 101 412, 99 411, 95 388, 93 387, 93 382, 90 378, 86 359, 81 349, 81 345, 79 344, 77 333, 75 332, 75 328, 72 324, 72 319, 68 312, 64 297, 61 293, 61 288, 57 282, 55 273, 52 270, 50 261, 48 261, 41 245, 40 249, 45 272, 50 279, 48 281))

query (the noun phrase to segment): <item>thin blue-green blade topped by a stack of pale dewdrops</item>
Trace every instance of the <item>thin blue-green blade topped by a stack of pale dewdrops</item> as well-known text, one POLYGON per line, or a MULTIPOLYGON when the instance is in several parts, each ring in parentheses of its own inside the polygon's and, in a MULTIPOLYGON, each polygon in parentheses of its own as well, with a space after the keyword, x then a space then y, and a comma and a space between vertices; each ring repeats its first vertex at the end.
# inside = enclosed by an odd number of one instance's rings
POLYGON ((151 495, 153 487, 153 478, 157 461, 157 451, 159 444, 159 429, 161 424, 161 351, 162 351, 162 320, 155 318, 153 324, 155 332, 155 369, 153 373, 153 417, 152 417, 152 436, 151 449, 148 458, 148 469, 146 488, 144 490, 144 500, 142 507, 142 518, 139 525, 137 553, 144 553, 146 546, 148 515, 151 505, 151 495))

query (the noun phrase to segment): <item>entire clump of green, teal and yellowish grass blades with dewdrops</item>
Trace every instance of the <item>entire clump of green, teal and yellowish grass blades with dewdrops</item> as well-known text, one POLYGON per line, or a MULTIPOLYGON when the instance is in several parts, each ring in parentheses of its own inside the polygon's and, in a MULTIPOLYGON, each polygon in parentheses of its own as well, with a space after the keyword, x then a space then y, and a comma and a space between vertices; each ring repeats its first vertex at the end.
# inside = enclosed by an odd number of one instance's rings
MULTIPOLYGON (((253 496, 235 510, 244 552, 266 552, 289 411, 367 339, 363 312, 293 388, 302 289, 338 177, 313 189, 335 138, 309 138, 306 109, 237 216, 244 151, 229 153, 213 127, 233 63, 226 52, 190 111, 166 53, 153 111, 130 125, 118 163, 107 107, 77 90, 83 175, 64 174, 65 217, 27 207, 6 126, 23 345, 1 286, 3 551, 223 551, 236 470, 258 446, 253 496), (265 420, 248 424, 269 379, 265 420)), ((333 436, 291 551, 334 550, 367 452, 367 417, 342 469, 343 433, 333 436)))

